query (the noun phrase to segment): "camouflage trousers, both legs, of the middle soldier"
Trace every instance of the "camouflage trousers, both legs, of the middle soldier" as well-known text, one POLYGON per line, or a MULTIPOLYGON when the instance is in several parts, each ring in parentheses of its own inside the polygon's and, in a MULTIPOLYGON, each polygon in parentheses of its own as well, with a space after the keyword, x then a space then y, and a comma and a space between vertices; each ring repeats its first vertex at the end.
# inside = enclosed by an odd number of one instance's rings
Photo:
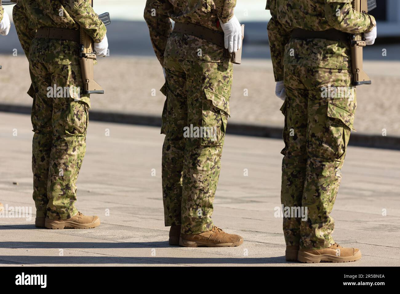
POLYGON ((165 57, 162 191, 165 225, 184 234, 212 229, 233 67, 165 57))

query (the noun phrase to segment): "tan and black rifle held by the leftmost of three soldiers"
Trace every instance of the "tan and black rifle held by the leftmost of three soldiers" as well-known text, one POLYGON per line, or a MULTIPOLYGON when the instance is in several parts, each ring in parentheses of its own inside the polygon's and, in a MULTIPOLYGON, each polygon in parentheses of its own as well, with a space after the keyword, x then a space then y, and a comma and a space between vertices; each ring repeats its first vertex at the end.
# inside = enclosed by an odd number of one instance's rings
MULTIPOLYGON (((105 26, 111 23, 110 14, 108 12, 100 14, 99 18, 105 26)), ((93 40, 81 27, 79 63, 84 83, 83 94, 104 94, 103 88, 93 78, 93 63, 96 59, 97 57, 96 52, 94 51, 93 40)))

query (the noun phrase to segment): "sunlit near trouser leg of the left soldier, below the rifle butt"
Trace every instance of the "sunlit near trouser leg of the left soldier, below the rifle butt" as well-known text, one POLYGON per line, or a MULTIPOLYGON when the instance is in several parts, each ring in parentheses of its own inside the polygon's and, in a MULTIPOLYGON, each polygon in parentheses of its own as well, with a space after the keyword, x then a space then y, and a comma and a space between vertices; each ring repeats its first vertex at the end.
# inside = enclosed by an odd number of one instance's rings
POLYGON ((65 220, 78 213, 75 208, 76 180, 86 152, 89 97, 74 92, 82 86, 78 65, 48 65, 52 84, 69 87, 69 95, 53 99, 54 136, 50 154, 47 217, 65 220))

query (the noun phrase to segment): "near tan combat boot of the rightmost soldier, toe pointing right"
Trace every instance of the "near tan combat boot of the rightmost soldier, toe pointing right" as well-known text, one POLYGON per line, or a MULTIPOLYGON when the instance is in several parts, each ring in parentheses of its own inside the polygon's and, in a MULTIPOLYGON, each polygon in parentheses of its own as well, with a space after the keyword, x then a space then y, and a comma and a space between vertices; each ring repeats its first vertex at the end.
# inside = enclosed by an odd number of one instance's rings
POLYGON ((361 259, 361 251, 358 248, 346 248, 335 243, 332 246, 318 250, 300 249, 298 261, 307 263, 349 262, 361 259))

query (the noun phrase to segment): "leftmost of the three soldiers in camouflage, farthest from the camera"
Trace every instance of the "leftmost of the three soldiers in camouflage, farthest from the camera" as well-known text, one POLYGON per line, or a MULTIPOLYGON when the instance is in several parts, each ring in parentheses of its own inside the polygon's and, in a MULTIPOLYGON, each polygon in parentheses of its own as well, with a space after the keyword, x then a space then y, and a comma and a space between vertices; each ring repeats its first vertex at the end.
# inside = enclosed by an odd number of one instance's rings
POLYGON ((89 95, 83 89, 79 43, 37 38, 39 28, 79 30, 96 44, 106 39, 106 27, 87 0, 18 0, 14 24, 29 60, 32 85, 32 171, 36 226, 94 228, 97 216, 84 216, 75 207, 76 180, 86 152, 89 95), (49 92, 62 87, 62 95, 49 92), (50 87, 50 88, 49 88, 50 87), (51 90, 50 90, 51 91, 51 90), (83 92, 83 91, 82 91, 83 92))

